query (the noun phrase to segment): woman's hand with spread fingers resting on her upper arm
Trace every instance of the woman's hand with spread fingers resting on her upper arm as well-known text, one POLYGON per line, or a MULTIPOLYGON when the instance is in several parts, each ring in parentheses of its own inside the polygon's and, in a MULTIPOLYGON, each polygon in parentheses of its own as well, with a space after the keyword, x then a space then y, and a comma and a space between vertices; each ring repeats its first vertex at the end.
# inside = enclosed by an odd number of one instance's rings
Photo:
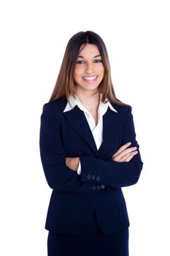
POLYGON ((112 155, 112 160, 115 162, 129 162, 134 155, 138 154, 136 147, 128 148, 131 142, 125 143, 121 146, 115 154, 112 155))

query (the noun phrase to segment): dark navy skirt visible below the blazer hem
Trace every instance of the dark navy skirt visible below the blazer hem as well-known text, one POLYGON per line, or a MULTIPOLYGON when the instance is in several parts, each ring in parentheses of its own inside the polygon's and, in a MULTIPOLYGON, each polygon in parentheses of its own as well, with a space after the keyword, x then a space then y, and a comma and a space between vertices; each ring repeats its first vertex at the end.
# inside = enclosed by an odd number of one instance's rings
POLYGON ((128 228, 115 235, 68 236, 49 231, 48 256, 128 256, 128 228))

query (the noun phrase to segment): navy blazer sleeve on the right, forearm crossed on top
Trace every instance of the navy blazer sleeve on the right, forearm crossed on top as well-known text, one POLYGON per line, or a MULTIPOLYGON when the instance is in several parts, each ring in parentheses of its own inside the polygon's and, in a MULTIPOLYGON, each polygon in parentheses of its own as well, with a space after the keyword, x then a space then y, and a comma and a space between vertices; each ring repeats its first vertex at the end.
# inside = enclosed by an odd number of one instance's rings
MULTIPOLYGON (((139 144, 136 141, 133 115, 131 107, 126 108, 123 115, 123 141, 122 145, 131 142, 136 146, 136 154, 129 162, 104 161, 91 156, 80 157, 81 181, 93 182, 92 177, 98 177, 98 184, 105 184, 108 187, 126 187, 136 184, 142 170, 143 162, 139 152, 139 144)), ((130 147, 131 147, 130 146, 130 147)), ((114 154, 115 152, 113 152, 114 154)))

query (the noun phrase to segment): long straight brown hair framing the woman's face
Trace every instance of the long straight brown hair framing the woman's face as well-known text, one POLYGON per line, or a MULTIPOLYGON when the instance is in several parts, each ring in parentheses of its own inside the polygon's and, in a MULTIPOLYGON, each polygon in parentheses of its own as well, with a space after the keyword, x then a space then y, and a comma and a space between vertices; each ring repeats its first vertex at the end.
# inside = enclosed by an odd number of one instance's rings
POLYGON ((103 39, 93 31, 80 31, 69 39, 63 56, 61 69, 49 101, 51 102, 61 97, 66 97, 66 99, 69 100, 70 94, 75 97, 76 84, 73 78, 74 67, 80 53, 80 48, 82 50, 82 46, 84 47, 87 44, 96 45, 101 54, 101 60, 104 66, 104 78, 98 86, 98 92, 102 94, 102 102, 105 102, 105 99, 108 99, 110 102, 114 102, 117 105, 127 105, 115 96, 106 45, 104 44, 103 39))

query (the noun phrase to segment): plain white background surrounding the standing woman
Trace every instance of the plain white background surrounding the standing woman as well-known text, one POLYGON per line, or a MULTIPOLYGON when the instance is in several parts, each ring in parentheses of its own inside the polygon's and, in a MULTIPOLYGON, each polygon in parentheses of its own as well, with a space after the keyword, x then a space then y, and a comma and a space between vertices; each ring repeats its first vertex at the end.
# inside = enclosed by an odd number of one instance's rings
POLYGON ((39 156, 40 115, 67 42, 86 30, 107 45, 144 162, 139 182, 123 188, 130 255, 170 255, 169 12, 165 0, 1 1, 1 255, 47 255, 51 189, 39 156))

